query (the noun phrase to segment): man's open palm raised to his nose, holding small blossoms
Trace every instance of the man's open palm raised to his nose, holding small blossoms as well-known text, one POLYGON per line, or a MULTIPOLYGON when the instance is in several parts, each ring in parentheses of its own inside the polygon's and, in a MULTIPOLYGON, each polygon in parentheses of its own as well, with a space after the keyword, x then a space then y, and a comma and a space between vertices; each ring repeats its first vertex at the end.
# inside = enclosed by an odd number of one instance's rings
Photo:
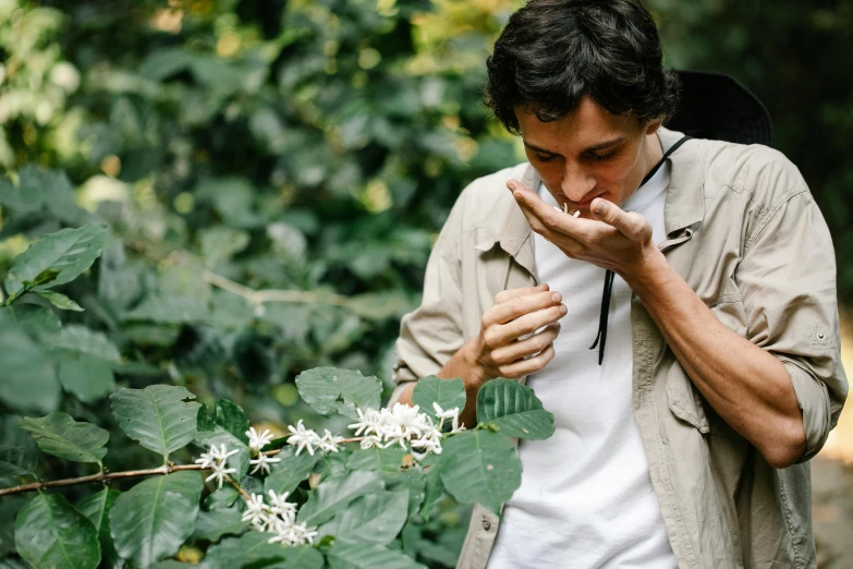
POLYGON ((571 258, 610 269, 624 278, 643 270, 647 259, 660 254, 651 240, 648 219, 623 211, 607 199, 594 199, 590 210, 595 219, 584 219, 557 211, 516 180, 510 180, 507 187, 531 228, 571 258))

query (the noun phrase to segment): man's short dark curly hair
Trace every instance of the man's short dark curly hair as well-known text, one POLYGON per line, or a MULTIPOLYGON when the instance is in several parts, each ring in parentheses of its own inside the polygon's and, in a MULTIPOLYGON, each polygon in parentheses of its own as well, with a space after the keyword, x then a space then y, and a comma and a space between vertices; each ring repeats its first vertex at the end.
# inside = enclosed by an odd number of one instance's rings
POLYGON ((570 114, 589 95, 613 114, 669 118, 678 75, 639 0, 531 0, 512 14, 487 60, 486 105, 519 134, 515 107, 540 121, 570 114))

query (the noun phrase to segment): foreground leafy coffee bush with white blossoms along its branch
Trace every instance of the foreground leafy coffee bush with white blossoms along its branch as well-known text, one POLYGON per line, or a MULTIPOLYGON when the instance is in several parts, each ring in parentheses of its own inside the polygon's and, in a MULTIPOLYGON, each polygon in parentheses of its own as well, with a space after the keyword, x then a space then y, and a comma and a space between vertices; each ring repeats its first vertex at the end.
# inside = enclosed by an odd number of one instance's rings
POLYGON ((379 411, 378 378, 317 367, 296 378, 301 397, 319 414, 355 421, 354 436, 327 429, 320 437, 300 420, 275 440, 269 431, 251 427, 242 408, 227 399, 207 407, 184 387, 161 384, 113 390, 117 348, 83 326, 61 325, 45 305, 82 310, 51 289, 88 269, 105 235, 97 223, 63 229, 13 261, 0 308, 8 348, 0 362, 12 380, 2 384, 0 398, 50 410, 60 388, 85 394, 83 400, 96 388, 94 399, 111 391, 110 426, 147 449, 150 462, 106 469, 110 431, 62 411, 25 416, 19 429, 4 429, 0 482, 8 487, 0 498, 38 491, 16 504, 14 522, 15 549, 34 567, 147 568, 179 552, 187 559, 188 552, 203 550, 209 568, 423 567, 415 559, 430 558, 423 534, 444 491, 458 504, 498 511, 521 484, 521 461, 508 436, 541 439, 553 433, 553 415, 532 389, 510 379, 479 390, 479 423, 466 431, 458 423, 465 405, 461 379, 423 378, 415 407, 379 411), (36 445, 63 461, 95 464, 96 472, 37 480, 36 445), (190 445, 208 450, 193 464, 178 463, 190 445), (143 476, 149 477, 127 487, 143 476), (72 500, 44 492, 84 484, 103 488, 69 491, 72 500))

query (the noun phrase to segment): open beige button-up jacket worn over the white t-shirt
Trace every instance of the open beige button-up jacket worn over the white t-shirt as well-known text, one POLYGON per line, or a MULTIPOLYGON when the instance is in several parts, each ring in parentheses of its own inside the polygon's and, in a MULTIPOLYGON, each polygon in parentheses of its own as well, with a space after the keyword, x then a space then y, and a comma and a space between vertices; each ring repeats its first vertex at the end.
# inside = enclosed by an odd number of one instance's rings
MULTIPOLYGON (((668 148, 681 134, 659 136, 668 148)), ((633 296, 634 416, 672 550, 682 569, 816 567, 806 461, 848 391, 829 231, 799 170, 776 150, 692 140, 669 160, 660 250, 723 324, 784 364, 807 439, 800 463, 768 465, 705 402, 633 296)), ((520 165, 474 181, 456 201, 430 255, 423 302, 401 323, 395 396, 479 332, 499 291, 538 283, 510 178, 539 183, 520 165)), ((486 566, 498 522, 474 509, 460 568, 486 566)))

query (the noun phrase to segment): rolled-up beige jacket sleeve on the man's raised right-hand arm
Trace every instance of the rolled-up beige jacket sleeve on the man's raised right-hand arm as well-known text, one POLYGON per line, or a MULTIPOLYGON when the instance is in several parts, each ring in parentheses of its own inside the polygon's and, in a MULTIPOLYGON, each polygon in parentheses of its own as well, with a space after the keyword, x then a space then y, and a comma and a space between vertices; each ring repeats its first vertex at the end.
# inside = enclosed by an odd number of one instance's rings
POLYGON ((747 338, 788 370, 814 457, 848 394, 841 365, 836 256, 826 221, 803 185, 763 210, 744 244, 735 281, 747 338))

